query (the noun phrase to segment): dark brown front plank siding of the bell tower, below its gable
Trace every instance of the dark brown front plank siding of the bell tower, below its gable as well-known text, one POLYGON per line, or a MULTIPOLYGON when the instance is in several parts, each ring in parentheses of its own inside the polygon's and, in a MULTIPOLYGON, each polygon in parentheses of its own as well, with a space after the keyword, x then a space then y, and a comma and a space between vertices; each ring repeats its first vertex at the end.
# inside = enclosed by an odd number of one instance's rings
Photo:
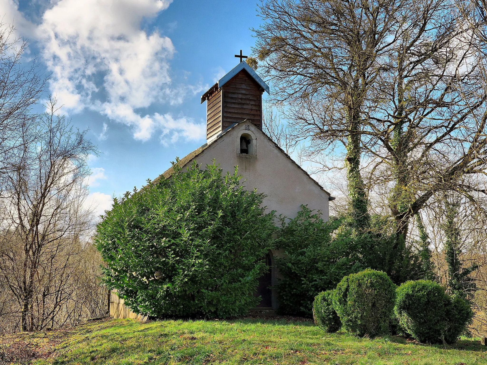
POLYGON ((233 123, 250 119, 262 128, 262 88, 245 71, 242 70, 228 80, 223 90, 222 129, 233 123))

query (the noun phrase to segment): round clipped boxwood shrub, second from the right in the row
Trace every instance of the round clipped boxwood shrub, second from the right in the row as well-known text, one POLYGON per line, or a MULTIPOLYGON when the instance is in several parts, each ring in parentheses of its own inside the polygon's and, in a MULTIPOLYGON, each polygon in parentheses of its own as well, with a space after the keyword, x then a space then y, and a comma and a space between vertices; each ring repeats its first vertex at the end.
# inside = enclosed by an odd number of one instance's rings
POLYGON ((451 300, 445 289, 430 280, 407 281, 397 288, 395 315, 399 325, 416 340, 441 343, 447 330, 451 300))

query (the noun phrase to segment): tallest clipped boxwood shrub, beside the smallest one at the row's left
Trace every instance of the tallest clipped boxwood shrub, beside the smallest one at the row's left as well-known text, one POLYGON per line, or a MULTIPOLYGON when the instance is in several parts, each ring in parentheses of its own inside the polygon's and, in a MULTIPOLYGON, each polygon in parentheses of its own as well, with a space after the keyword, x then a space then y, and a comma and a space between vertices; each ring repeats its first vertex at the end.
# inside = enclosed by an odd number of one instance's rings
POLYGON ((344 329, 358 336, 389 331, 396 286, 372 269, 345 276, 337 285, 335 310, 344 329))

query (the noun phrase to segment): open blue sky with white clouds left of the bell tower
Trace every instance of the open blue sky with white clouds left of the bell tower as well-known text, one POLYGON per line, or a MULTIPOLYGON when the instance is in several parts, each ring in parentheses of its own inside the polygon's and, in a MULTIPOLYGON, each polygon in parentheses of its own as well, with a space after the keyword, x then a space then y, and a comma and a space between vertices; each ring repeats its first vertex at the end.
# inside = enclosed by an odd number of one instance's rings
MULTIPOLYGON (((98 212, 206 140, 200 96, 250 53, 256 0, 0 0, 29 40, 62 113, 101 154, 90 160, 98 212)), ((272 88, 272 86, 271 86, 272 88)))

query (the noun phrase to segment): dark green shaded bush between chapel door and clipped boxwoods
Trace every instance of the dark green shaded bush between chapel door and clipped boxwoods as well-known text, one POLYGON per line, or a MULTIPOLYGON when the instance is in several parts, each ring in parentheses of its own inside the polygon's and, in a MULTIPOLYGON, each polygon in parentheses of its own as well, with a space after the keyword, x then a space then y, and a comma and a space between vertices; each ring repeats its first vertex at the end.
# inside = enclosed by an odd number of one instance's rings
POLYGON ((311 316, 319 292, 334 289, 344 275, 361 270, 356 241, 351 235, 332 234, 341 220, 324 221, 321 212, 305 205, 296 218, 280 217, 276 247, 285 256, 276 258, 281 279, 277 284, 283 314, 311 316))

